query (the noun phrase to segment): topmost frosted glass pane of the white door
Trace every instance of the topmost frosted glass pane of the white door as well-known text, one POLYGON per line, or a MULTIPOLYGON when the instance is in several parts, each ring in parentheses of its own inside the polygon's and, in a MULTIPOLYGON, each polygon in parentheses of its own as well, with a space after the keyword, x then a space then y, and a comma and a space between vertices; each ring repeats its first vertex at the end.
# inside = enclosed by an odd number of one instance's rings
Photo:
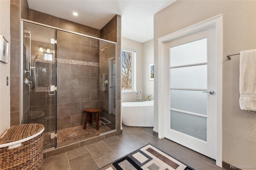
POLYGON ((207 62, 207 39, 170 48, 170 66, 207 62))

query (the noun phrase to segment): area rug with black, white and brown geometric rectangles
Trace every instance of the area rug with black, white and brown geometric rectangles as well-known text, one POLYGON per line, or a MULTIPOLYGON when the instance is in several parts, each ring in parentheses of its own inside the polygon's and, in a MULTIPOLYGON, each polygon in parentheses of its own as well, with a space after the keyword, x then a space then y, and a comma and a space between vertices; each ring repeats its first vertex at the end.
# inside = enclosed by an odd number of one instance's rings
POLYGON ((99 170, 193 170, 148 144, 99 170))

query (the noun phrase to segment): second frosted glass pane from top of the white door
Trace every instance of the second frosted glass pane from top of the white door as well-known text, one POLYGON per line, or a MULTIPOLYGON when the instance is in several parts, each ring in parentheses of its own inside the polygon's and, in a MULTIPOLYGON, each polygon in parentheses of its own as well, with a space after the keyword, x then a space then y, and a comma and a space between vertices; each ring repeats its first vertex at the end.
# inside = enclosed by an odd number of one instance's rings
POLYGON ((207 65, 172 68, 171 88, 207 89, 207 65))

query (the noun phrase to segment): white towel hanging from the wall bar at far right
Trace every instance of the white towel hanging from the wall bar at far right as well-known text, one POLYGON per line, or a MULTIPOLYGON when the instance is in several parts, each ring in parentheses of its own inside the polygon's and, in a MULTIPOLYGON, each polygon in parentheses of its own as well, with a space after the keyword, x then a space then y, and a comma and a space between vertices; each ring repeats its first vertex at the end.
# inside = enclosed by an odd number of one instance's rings
POLYGON ((256 49, 240 52, 239 85, 240 108, 256 111, 256 49))

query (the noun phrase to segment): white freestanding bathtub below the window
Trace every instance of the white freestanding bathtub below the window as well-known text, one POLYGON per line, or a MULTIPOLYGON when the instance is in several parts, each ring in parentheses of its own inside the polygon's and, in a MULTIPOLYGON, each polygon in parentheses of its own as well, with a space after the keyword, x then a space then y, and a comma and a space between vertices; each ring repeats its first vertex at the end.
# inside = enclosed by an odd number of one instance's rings
POLYGON ((154 127, 154 101, 122 103, 122 123, 129 127, 154 127))

